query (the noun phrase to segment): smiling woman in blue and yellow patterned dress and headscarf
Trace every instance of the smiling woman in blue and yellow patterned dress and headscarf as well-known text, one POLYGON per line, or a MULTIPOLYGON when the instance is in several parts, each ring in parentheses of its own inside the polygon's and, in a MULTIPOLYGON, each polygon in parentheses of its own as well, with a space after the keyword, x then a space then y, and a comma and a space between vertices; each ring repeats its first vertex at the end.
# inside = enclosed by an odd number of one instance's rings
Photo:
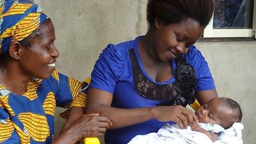
POLYGON ((0 28, 0 142, 51 143, 56 106, 69 114, 54 143, 103 135, 111 121, 83 115, 87 84, 56 71, 55 29, 42 10, 27 0, 2 0, 0 28))

